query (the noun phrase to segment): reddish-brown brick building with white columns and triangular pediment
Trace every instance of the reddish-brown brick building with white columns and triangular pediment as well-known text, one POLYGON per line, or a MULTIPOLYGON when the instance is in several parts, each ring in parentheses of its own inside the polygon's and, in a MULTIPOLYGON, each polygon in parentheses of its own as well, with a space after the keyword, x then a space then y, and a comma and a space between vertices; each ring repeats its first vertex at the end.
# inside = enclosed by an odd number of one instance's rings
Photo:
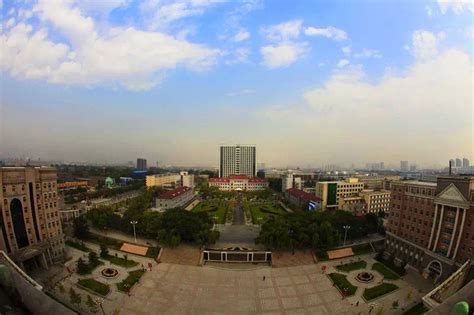
POLYGON ((386 250, 435 281, 474 257, 474 177, 392 187, 386 250))

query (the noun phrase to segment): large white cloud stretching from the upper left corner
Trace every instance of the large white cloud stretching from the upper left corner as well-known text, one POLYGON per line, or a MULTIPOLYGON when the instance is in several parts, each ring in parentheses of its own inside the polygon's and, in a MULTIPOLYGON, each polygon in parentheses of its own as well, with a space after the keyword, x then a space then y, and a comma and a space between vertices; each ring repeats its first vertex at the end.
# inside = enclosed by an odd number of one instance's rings
POLYGON ((54 43, 45 28, 33 31, 20 23, 0 36, 2 69, 18 78, 46 79, 60 84, 120 83, 149 89, 166 70, 192 70, 212 65, 218 50, 159 33, 129 28, 97 29, 92 18, 69 2, 40 1, 35 14, 51 23, 67 43, 54 43))

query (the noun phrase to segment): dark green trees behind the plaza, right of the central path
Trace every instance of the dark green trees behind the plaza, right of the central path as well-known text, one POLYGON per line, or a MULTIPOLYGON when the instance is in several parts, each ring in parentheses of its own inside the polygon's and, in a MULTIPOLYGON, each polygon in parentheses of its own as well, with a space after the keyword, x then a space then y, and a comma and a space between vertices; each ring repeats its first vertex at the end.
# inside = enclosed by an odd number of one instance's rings
POLYGON ((256 242, 270 249, 327 249, 340 244, 344 226, 350 226, 347 239, 357 239, 377 232, 379 220, 346 211, 292 213, 265 222, 256 242))

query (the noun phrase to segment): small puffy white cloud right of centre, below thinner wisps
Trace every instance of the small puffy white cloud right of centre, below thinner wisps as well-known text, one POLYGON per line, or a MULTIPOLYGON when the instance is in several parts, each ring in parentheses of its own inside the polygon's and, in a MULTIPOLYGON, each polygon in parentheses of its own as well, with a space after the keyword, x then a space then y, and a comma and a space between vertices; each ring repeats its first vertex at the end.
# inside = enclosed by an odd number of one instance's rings
POLYGON ((307 43, 283 42, 263 46, 260 48, 260 53, 263 57, 262 64, 269 69, 274 69, 291 65, 309 50, 307 43))

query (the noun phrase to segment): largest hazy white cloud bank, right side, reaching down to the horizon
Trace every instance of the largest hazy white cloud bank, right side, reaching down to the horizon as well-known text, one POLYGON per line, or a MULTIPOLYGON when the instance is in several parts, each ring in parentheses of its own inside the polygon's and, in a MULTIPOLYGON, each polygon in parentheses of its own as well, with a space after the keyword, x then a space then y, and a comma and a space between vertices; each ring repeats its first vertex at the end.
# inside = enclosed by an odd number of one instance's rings
POLYGON ((472 153, 474 72, 468 54, 448 50, 376 83, 368 79, 361 67, 347 66, 304 93, 306 107, 269 107, 257 114, 289 130, 303 125, 307 134, 332 130, 330 140, 306 138, 300 148, 311 143, 333 157, 350 151, 354 162, 373 152, 419 163, 472 153))

